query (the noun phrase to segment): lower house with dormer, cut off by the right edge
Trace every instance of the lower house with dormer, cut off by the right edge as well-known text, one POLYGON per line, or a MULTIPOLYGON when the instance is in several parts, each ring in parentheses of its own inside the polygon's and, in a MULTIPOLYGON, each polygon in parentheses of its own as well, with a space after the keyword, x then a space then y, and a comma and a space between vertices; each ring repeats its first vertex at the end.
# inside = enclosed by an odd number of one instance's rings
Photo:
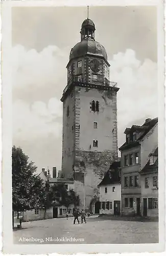
POLYGON ((140 170, 141 215, 158 216, 158 147, 149 155, 149 161, 140 170))

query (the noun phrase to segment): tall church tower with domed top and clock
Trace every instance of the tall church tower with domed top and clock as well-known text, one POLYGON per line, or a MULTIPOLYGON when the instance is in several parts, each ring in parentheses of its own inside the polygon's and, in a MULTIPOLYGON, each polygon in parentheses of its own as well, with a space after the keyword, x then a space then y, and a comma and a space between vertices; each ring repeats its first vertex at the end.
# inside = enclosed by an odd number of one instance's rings
MULTIPOLYGON (((63 91, 62 174, 74 179, 80 208, 94 209, 98 184, 117 160, 117 83, 109 81, 105 48, 84 20, 81 41, 70 51, 63 91)), ((95 208, 98 213, 98 207, 95 208)))

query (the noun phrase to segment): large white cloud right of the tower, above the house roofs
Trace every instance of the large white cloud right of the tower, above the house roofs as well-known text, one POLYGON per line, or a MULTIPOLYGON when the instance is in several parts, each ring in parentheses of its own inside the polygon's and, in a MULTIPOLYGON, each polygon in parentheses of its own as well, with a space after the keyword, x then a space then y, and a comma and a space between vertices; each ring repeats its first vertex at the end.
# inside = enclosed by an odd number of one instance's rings
POLYGON ((145 118, 157 116, 157 63, 143 62, 131 49, 113 55, 110 63, 110 80, 117 82, 118 145, 125 136, 126 126, 141 124, 145 118), (139 123, 137 123, 139 120, 139 123))

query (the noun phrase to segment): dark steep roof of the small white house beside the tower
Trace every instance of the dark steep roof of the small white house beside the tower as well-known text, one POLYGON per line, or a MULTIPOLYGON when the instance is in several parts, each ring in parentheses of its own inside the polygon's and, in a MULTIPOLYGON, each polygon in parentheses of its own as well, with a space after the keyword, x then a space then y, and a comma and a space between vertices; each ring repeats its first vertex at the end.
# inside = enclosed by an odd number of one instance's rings
POLYGON ((103 180, 100 182, 98 186, 110 185, 110 184, 121 184, 121 177, 119 175, 119 170, 121 167, 121 161, 113 162, 110 165, 110 168, 107 170, 104 175, 103 180))

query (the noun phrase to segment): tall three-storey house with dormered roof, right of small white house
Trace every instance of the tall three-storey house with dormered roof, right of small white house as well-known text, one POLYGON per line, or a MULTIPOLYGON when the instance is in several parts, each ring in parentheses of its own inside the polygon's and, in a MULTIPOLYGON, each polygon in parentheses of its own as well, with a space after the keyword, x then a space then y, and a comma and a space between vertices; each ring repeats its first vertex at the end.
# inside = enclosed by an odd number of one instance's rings
POLYGON ((146 119, 141 126, 126 128, 126 142, 121 151, 122 214, 140 215, 141 184, 139 170, 157 147, 158 118, 146 119))

